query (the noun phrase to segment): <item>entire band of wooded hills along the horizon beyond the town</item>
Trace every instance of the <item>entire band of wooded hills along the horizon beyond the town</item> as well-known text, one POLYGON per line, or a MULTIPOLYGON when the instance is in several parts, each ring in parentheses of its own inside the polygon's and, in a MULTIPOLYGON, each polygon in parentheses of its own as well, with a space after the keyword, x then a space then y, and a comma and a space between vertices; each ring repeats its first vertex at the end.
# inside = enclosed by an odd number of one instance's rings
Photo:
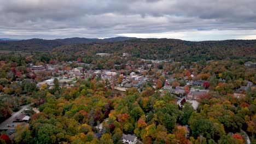
MULTIPOLYGON (((214 57, 222 59, 226 56, 230 56, 232 59, 237 57, 254 59, 255 47, 256 40, 186 41, 180 39, 141 39, 135 37, 0 40, 0 50, 8 51, 66 53, 79 53, 81 51, 87 51, 88 53, 127 52, 136 53, 136 55, 141 55, 143 58, 151 58, 146 56, 158 53, 156 57, 158 59, 164 59, 169 57, 169 55, 173 55, 173 57, 184 55, 191 59, 198 53, 201 53, 200 57, 205 57, 207 61, 214 57), (223 55, 220 56, 221 53, 223 55)), ((196 61, 196 59, 194 60, 196 61)))

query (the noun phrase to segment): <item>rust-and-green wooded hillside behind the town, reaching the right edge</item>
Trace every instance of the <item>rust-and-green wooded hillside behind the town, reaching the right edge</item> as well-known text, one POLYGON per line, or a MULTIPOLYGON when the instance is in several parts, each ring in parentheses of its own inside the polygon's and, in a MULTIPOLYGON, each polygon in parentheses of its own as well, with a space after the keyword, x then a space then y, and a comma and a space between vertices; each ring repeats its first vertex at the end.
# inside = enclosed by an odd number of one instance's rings
POLYGON ((255 59, 256 40, 184 41, 178 39, 133 39, 104 44, 63 45, 56 53, 130 53, 144 59, 173 59, 174 61, 209 61, 212 59, 255 59))

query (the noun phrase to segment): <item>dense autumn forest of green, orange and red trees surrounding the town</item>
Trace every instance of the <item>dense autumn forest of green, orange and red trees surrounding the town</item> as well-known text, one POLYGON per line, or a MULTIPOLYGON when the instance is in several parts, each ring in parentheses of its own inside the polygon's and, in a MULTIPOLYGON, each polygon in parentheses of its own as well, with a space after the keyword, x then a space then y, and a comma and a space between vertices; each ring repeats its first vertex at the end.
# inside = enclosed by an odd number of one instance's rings
POLYGON ((131 39, 1 54, 1 121, 26 104, 40 112, 29 112, 30 121, 19 124, 12 139, 2 131, 0 141, 122 143, 123 134, 130 134, 138 143, 255 143, 256 68, 245 65, 256 62, 255 53, 256 40, 131 39), (56 68, 33 71, 33 65, 56 68), (78 67, 73 83, 61 81, 78 67), (117 80, 94 73, 103 70, 119 74, 117 80), (147 82, 125 92, 115 89, 132 74, 147 82), (53 83, 38 86, 49 79, 53 83), (187 84, 194 81, 202 86, 187 84), (182 87, 185 95, 193 88, 207 93, 195 109, 185 99, 177 104, 179 95, 164 88, 170 86, 182 87))

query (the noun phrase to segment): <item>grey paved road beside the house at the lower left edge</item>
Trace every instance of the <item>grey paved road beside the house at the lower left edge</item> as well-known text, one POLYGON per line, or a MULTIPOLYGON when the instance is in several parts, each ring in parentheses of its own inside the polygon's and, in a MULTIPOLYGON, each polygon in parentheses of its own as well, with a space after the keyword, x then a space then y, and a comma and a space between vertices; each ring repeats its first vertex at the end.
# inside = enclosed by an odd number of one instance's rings
POLYGON ((19 110, 18 112, 14 112, 11 114, 11 117, 9 117, 8 119, 6 119, 4 122, 2 122, 0 124, 0 130, 2 129, 14 129, 16 127, 17 124, 20 124, 20 123, 13 123, 14 119, 16 116, 20 115, 20 113, 22 111, 24 111, 28 106, 30 106, 30 104, 28 105, 23 105, 21 106, 21 110, 19 110), (8 125, 14 125, 14 127, 7 127, 7 124, 8 125))

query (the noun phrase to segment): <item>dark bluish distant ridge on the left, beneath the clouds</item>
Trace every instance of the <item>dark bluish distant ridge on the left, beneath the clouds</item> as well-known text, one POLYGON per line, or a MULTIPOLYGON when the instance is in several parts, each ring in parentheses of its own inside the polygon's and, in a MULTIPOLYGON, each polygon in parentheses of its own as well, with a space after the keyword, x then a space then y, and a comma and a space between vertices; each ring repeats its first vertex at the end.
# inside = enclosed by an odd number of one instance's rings
POLYGON ((51 51, 55 47, 66 44, 88 44, 88 43, 108 43, 122 40, 136 39, 135 37, 115 37, 106 39, 95 38, 66 38, 66 39, 27 39, 27 40, 0 40, 0 50, 15 50, 15 51, 51 51))

